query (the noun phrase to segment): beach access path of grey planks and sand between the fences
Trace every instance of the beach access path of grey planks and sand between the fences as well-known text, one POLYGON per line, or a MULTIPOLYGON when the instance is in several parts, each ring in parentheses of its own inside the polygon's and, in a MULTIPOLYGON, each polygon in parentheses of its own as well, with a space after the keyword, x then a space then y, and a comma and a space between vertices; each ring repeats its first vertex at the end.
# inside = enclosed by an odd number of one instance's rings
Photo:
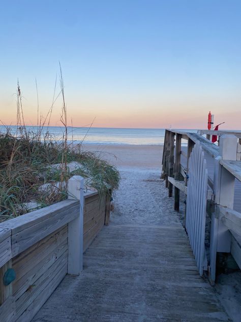
POLYGON ((33 319, 69 321, 229 320, 215 289, 199 276, 186 232, 155 170, 126 170, 115 210, 33 319))

